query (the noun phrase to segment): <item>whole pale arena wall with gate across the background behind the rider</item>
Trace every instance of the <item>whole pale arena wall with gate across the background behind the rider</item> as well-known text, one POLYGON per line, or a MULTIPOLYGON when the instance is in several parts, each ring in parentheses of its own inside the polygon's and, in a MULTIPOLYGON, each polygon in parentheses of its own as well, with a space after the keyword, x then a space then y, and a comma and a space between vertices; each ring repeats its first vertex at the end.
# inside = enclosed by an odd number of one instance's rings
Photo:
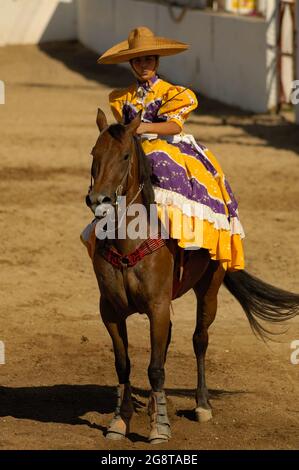
MULTIPOLYGON (((161 72, 173 81, 253 112, 266 112, 281 101, 290 102, 295 78, 295 34, 288 4, 294 2, 177 0, 180 6, 176 7, 172 3, 170 0, 2 0, 0 45, 79 39, 101 53, 127 37, 136 25, 146 25, 158 35, 191 45, 188 52, 161 61, 161 72), (286 11, 279 21, 282 4, 286 11), (214 9, 198 8, 204 5, 214 9), (258 6, 257 14, 238 15, 220 9, 250 13, 254 5, 258 6)), ((298 24, 298 1, 293 8, 298 24)), ((298 50, 299 47, 297 56, 298 50)), ((297 78, 298 67, 299 59, 297 78)))

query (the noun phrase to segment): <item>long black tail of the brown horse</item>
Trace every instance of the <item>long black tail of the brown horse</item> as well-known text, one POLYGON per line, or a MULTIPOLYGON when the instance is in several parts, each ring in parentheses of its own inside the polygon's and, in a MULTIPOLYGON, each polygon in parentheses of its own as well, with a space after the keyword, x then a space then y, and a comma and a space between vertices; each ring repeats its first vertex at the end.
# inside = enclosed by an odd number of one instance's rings
POLYGON ((258 320, 276 323, 299 314, 299 295, 271 286, 246 271, 227 272, 224 285, 241 304, 253 332, 262 339, 275 333, 258 320))

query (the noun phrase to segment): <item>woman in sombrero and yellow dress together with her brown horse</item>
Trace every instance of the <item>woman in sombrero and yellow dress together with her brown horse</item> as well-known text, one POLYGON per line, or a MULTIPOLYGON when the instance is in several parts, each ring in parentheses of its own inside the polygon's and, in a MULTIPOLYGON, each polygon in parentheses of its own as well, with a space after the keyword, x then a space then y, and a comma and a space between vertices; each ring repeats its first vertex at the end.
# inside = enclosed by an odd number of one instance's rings
POLYGON ((191 288, 197 297, 193 347, 197 359, 198 421, 212 417, 205 382, 205 354, 208 328, 216 315, 222 282, 238 299, 252 328, 261 336, 267 330, 257 319, 284 321, 298 313, 299 296, 263 283, 244 271, 244 235, 230 186, 213 154, 192 135, 182 132, 184 121, 197 106, 196 97, 191 90, 172 85, 157 75, 160 56, 177 54, 187 47, 140 27, 130 32, 128 41, 109 49, 99 59, 107 64, 129 61, 137 82, 110 95, 118 124, 108 126, 99 110, 100 135, 92 150, 92 179, 86 202, 96 215, 105 201, 117 206, 122 195, 129 201, 125 214, 133 202, 143 204, 147 211, 154 205, 161 219, 166 214, 170 235, 167 243, 161 237, 154 240, 149 232, 139 240, 127 236, 102 243, 95 240, 96 224, 83 234, 101 291, 100 312, 113 341, 119 379, 117 407, 107 431, 111 439, 122 438, 129 432, 133 414, 126 329, 129 315, 145 313, 150 322, 149 440, 158 443, 170 438, 164 364, 173 297, 191 288), (141 143, 136 134, 141 136, 141 143), (178 252, 187 249, 187 268, 174 295, 175 260, 178 252))

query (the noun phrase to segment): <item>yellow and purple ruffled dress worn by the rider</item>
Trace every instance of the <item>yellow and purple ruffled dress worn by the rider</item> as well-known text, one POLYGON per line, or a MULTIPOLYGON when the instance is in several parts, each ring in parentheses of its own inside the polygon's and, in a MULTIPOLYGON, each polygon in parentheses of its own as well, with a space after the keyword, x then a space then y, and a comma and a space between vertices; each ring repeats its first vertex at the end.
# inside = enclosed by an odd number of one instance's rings
MULTIPOLYGON (((197 107, 195 94, 158 76, 114 90, 110 106, 118 122, 128 124, 139 111, 143 122, 184 121, 197 107)), ((184 249, 206 248, 225 269, 244 269, 237 202, 215 156, 192 135, 143 135, 152 166, 158 213, 172 238, 184 249)))

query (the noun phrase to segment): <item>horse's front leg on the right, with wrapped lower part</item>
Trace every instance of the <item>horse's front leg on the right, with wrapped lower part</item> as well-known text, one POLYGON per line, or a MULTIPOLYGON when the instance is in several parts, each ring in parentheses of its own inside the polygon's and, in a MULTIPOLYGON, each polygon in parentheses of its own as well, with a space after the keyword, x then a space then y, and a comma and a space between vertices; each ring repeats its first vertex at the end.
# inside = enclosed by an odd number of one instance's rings
POLYGON ((171 437, 164 392, 164 363, 170 334, 169 304, 156 306, 149 314, 151 332, 151 360, 148 377, 152 387, 149 398, 151 431, 149 441, 158 444, 171 437))

